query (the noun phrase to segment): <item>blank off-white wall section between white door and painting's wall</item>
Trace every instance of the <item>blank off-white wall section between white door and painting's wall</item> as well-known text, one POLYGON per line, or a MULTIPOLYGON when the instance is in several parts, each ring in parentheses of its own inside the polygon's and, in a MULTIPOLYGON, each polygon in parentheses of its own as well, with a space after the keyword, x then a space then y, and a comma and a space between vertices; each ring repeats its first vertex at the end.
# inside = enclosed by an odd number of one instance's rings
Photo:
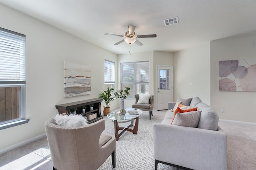
POLYGON ((210 105, 210 87, 210 42, 174 53, 174 102, 198 96, 210 105))

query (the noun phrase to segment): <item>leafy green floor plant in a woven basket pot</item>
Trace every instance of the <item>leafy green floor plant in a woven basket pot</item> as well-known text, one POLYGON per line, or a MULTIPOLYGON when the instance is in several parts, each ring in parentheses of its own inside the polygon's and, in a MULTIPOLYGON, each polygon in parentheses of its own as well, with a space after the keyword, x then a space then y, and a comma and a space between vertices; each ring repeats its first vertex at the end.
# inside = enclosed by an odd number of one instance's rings
POLYGON ((110 113, 110 104, 109 102, 113 101, 114 98, 112 98, 112 92, 114 92, 114 88, 107 88, 107 90, 104 90, 101 94, 99 99, 103 99, 106 103, 106 106, 103 106, 103 114, 104 116, 108 115, 108 113, 110 113))

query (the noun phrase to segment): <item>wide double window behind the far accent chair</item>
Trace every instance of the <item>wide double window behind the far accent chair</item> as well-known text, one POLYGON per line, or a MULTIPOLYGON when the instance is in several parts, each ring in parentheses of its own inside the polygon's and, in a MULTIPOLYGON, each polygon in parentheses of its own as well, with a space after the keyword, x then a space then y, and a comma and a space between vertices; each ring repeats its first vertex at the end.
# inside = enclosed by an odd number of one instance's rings
MULTIPOLYGON (((128 69, 126 69, 128 70, 128 69)), ((121 72, 121 90, 124 90, 125 85, 128 84, 130 86, 133 86, 133 92, 127 97, 127 98, 134 98, 135 94, 139 94, 141 91, 138 89, 140 85, 147 86, 147 90, 145 90, 146 94, 150 94, 149 92, 149 84, 150 84, 150 71, 149 71, 149 61, 138 61, 138 62, 129 62, 129 63, 120 63, 120 72, 121 72), (140 67, 140 64, 147 64, 147 68, 140 67), (130 72, 133 72, 133 74, 130 74, 131 80, 125 80, 124 76, 124 66, 130 65, 130 72), (143 70, 144 73, 141 72, 143 70), (140 73, 140 75, 137 75, 137 73, 140 73), (143 76, 143 78, 141 78, 143 76), (133 80, 132 80, 133 79, 133 80), (144 80, 142 80, 144 79, 144 80)), ((127 78, 127 77, 126 77, 127 78)))

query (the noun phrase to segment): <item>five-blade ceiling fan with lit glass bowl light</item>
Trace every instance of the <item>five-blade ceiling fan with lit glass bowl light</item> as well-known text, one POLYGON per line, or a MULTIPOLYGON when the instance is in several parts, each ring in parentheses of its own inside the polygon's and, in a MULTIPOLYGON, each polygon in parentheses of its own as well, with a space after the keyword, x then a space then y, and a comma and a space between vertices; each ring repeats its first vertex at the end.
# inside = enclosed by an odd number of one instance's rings
POLYGON ((129 31, 125 33, 125 35, 116 35, 116 34, 109 34, 105 33, 105 35, 113 35, 113 36, 118 36, 118 37, 125 37, 125 39, 115 43, 114 45, 118 45, 122 42, 126 42, 128 44, 136 43, 139 46, 142 46, 143 44, 137 40, 137 38, 154 38, 156 37, 156 34, 150 34, 150 35, 135 35, 135 27, 134 25, 128 25, 129 31))

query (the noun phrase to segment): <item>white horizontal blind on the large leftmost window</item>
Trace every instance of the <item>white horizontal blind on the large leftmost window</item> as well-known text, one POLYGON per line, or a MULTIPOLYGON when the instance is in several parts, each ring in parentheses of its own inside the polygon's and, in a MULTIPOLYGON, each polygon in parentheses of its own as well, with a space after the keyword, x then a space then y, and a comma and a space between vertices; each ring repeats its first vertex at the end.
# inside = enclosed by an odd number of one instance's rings
POLYGON ((0 28, 0 80, 25 82, 25 38, 0 28))

